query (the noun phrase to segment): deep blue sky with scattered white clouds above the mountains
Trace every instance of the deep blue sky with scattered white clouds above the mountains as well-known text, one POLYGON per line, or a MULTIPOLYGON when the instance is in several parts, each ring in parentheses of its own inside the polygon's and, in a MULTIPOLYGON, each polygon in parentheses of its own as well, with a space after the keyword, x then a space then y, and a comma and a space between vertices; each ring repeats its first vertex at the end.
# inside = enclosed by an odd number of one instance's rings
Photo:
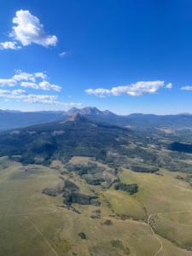
POLYGON ((0 109, 192 113, 190 0, 3 1, 0 109))

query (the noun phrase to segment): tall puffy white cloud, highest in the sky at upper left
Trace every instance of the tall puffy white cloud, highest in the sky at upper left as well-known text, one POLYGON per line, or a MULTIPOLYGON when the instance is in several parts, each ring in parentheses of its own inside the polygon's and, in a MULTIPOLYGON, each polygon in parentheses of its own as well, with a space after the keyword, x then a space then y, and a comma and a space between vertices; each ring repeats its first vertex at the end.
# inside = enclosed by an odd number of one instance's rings
POLYGON ((55 46, 58 41, 55 36, 49 36, 44 31, 44 26, 40 24, 38 18, 31 15, 28 10, 17 11, 13 23, 16 26, 13 26, 9 36, 20 41, 24 46, 32 43, 41 44, 44 47, 55 46))

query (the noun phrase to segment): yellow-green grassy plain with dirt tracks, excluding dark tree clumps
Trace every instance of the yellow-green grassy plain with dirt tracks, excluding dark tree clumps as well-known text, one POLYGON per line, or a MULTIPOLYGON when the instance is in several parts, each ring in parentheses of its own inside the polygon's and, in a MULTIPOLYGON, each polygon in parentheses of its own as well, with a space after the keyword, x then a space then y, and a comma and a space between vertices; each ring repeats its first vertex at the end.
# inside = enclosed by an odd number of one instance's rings
MULTIPOLYGON (((73 157, 70 161, 84 164, 88 160, 73 157)), ((50 167, 23 167, 0 158, 0 255, 154 256, 160 241, 158 256, 191 255, 181 247, 192 245, 192 188, 174 177, 178 172, 161 169, 160 174, 123 168, 118 174, 121 182, 139 187, 137 194, 129 195, 113 186, 88 185, 76 173, 67 173, 60 161, 50 167), (98 193, 101 206, 73 204, 81 212, 77 214, 61 207, 61 195, 44 195, 42 189, 62 183, 60 171, 65 172, 64 179, 79 186, 80 193, 98 193), (101 218, 90 218, 96 210, 101 218), (160 241, 147 223, 150 214, 149 223, 160 241), (107 219, 112 225, 105 224, 107 219)))

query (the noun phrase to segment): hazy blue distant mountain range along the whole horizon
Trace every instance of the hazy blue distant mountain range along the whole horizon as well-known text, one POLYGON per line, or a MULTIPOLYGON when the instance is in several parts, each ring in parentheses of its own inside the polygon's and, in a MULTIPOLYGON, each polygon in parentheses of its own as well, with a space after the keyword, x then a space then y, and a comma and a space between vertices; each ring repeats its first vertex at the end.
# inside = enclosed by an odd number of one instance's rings
POLYGON ((74 113, 80 113, 87 119, 98 122, 108 122, 113 125, 131 126, 132 129, 144 130, 154 128, 192 128, 192 114, 178 113, 171 115, 155 115, 131 113, 117 115, 108 110, 101 111, 95 107, 71 108, 65 111, 20 112, 15 110, 0 110, 0 131, 66 120, 74 113))

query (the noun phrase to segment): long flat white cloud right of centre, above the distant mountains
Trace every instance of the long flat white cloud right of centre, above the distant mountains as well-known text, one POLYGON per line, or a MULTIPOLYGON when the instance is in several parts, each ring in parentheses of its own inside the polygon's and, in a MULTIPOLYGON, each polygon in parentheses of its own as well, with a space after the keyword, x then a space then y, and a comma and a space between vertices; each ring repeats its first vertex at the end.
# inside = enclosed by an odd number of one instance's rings
POLYGON ((88 89, 85 90, 88 94, 93 94, 95 96, 105 97, 105 96, 144 96, 147 94, 156 93, 160 87, 163 87, 164 81, 148 81, 148 82, 137 82, 136 84, 130 84, 125 86, 113 87, 111 90, 108 89, 88 89))

